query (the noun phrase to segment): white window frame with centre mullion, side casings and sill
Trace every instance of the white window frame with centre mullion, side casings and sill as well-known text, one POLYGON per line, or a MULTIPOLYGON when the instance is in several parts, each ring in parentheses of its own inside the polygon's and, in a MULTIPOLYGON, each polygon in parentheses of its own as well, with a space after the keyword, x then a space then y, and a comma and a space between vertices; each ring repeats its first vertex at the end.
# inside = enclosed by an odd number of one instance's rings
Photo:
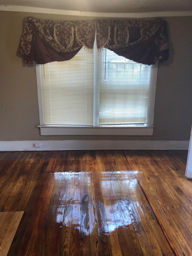
MULTIPOLYGON (((95 43, 96 45, 96 40, 95 43)), ((149 104, 146 125, 107 125, 99 126, 99 67, 100 57, 97 47, 94 47, 94 106, 93 126, 57 126, 44 124, 43 92, 41 80, 41 65, 36 64, 37 92, 39 105, 39 123, 41 135, 153 135, 153 120, 155 107, 155 93, 157 84, 158 61, 151 68, 149 104)))

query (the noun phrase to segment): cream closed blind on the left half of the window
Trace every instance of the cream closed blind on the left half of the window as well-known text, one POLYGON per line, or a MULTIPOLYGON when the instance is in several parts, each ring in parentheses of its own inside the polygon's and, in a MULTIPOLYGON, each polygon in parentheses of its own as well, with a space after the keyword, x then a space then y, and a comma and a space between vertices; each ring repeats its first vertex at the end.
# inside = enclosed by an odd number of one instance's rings
POLYGON ((41 65, 45 125, 93 125, 93 53, 41 65))

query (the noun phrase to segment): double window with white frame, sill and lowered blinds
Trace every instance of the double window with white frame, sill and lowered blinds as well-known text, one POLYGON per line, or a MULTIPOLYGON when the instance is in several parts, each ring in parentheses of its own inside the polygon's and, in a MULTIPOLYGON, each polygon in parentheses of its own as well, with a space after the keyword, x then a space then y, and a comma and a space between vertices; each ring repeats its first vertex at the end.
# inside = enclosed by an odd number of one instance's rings
POLYGON ((36 71, 42 135, 152 135, 157 65, 82 48, 36 71))

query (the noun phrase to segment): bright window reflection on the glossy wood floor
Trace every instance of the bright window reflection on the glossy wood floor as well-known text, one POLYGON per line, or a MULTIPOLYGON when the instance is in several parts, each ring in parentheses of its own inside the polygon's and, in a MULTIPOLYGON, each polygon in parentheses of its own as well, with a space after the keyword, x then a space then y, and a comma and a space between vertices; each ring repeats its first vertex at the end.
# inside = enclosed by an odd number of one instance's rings
MULTIPOLYGON (((116 228, 120 226, 128 227, 130 224, 133 224, 133 218, 129 212, 131 212, 131 206, 129 204, 128 198, 125 198, 125 191, 124 193, 122 192, 122 189, 126 188, 127 189, 134 189, 136 188, 137 185, 137 179, 134 175, 137 173, 141 173, 141 171, 103 171, 99 172, 99 179, 100 179, 100 186, 101 186, 101 191, 103 194, 103 202, 99 202, 99 208, 104 208, 106 219, 107 219, 107 229, 108 232, 113 232, 116 230, 116 228), (130 188, 127 186, 131 184, 130 188), (119 197, 121 199, 119 199, 119 197)), ((64 180, 67 181, 67 183, 71 182, 71 180, 78 179, 80 184, 86 183, 87 186, 91 185, 92 180, 92 173, 91 172, 74 172, 74 171, 68 171, 68 172, 56 172, 54 173, 55 175, 55 180, 64 180), (83 175, 82 175, 83 174, 83 175), (86 179, 86 180, 82 180, 86 179)), ((79 190, 80 191, 80 190, 79 190)), ((60 191, 62 193, 62 191, 60 191)), ((86 199, 88 203, 93 204, 92 207, 94 209, 94 212, 91 212, 88 210, 88 212, 82 212, 82 197, 81 195, 78 198, 75 197, 76 193, 73 193, 73 196, 68 198, 66 200, 66 197, 64 196, 63 201, 58 201, 57 204, 57 212, 55 215, 55 221, 60 224, 60 227, 62 228, 63 225, 65 226, 71 226, 71 221, 67 218, 67 221, 65 220, 64 216, 67 215, 67 212, 69 209, 81 209, 81 212, 79 213, 80 217, 78 219, 78 223, 74 223, 73 219, 73 225, 75 228, 79 228, 79 221, 85 222, 85 220, 90 218, 91 214, 94 215, 96 212, 96 204, 93 200, 93 197, 87 194, 87 196, 84 196, 84 200, 86 199), (81 198, 81 199, 80 199, 81 198), (67 207, 66 207, 67 205, 67 207), (88 215, 88 216, 87 216, 88 215)), ((67 192, 66 192, 67 196, 67 192)), ((139 202, 137 201, 137 197, 132 197, 131 198, 134 201, 134 204, 137 207, 139 207, 139 202)), ((136 209, 135 208, 135 209, 136 209)), ((91 217, 93 218, 93 216, 91 217)), ((95 223, 95 226, 92 225, 89 229, 83 229, 83 232, 88 235, 89 233, 94 232, 94 229, 98 228, 97 223, 95 223)), ((106 230, 107 232, 107 230, 106 230)))

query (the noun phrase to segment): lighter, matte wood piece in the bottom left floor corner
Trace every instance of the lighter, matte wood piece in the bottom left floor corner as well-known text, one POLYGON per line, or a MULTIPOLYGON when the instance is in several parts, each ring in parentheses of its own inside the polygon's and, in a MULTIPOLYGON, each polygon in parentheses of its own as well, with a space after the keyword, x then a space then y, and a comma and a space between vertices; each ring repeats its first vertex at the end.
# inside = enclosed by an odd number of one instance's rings
POLYGON ((0 212, 0 255, 6 256, 23 212, 0 212))

